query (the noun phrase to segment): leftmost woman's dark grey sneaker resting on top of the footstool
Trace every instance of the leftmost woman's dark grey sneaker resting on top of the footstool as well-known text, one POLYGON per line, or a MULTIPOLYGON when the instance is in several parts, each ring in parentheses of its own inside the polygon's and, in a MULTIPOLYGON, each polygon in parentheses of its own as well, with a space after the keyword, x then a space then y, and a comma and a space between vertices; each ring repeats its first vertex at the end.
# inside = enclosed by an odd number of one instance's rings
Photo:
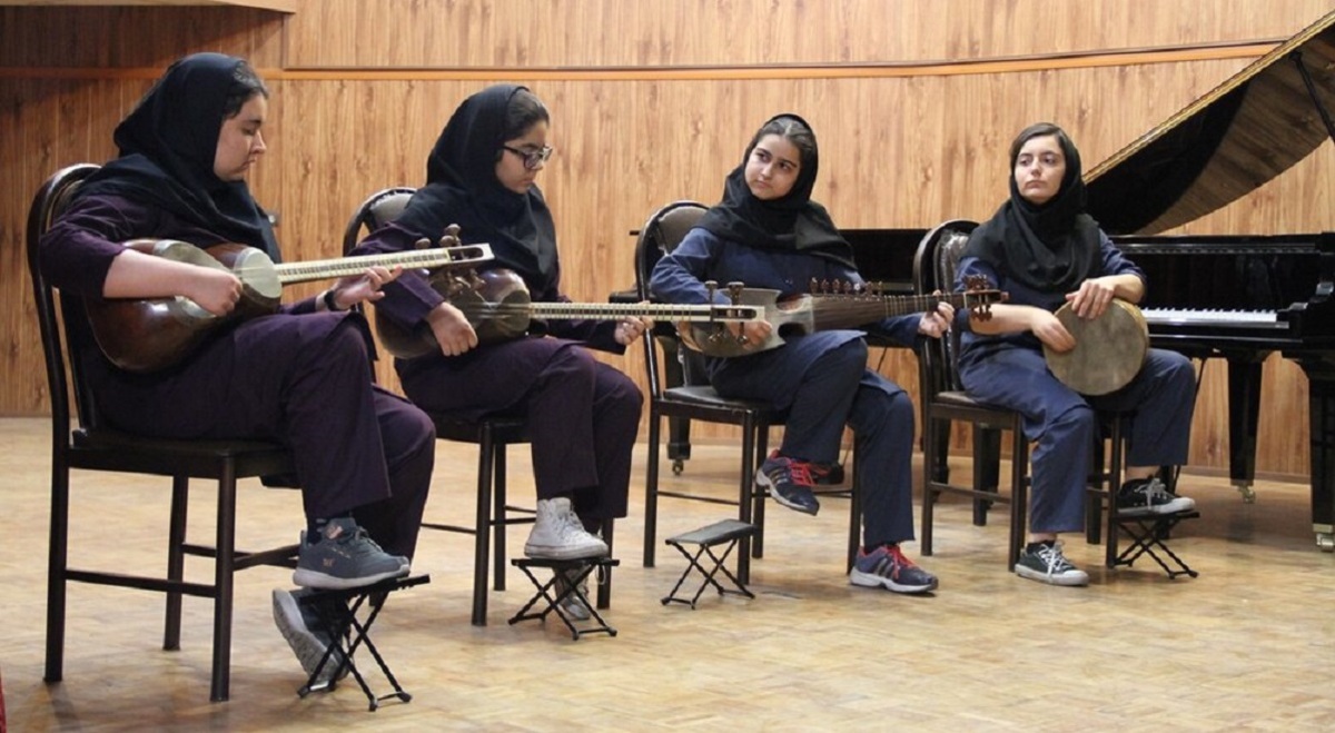
POLYGON ((302 537, 292 582, 302 587, 342 590, 409 574, 402 555, 380 549, 350 517, 330 519, 315 542, 302 537))

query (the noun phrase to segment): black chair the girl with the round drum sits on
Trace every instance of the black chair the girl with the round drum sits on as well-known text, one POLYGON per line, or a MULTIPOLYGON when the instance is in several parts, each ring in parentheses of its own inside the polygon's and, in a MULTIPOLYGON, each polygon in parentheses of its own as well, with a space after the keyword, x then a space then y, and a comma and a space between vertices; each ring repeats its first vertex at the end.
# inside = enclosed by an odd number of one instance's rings
MULTIPOLYGON (((940 290, 949 292, 955 286, 956 264, 977 227, 975 222, 951 220, 930 230, 918 244, 913 258, 913 286, 920 295, 940 290)), ((992 503, 1011 505, 1011 535, 1007 567, 1015 567, 1024 546, 1027 525, 1027 491, 1029 443, 1020 429, 1020 414, 1001 407, 983 405, 960 385, 956 364, 960 336, 951 331, 947 338, 928 339, 921 359, 922 402, 922 554, 932 554, 932 523, 934 506, 943 493, 963 494, 975 502, 973 523, 987 523, 992 503), (951 425, 965 422, 973 427, 972 483, 952 483, 945 470, 949 453, 951 425), (999 491, 999 461, 1001 431, 1011 431, 1011 494, 999 491)))

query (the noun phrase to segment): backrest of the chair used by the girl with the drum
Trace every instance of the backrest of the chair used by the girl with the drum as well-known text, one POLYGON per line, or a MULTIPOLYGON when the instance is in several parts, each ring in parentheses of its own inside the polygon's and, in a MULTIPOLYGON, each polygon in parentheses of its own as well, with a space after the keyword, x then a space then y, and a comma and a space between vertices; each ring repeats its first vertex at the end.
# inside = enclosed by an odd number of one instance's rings
MULTIPOLYGON (((913 255, 913 290, 918 295, 955 290, 955 271, 969 243, 977 222, 952 219, 926 232, 913 255)), ((960 334, 952 328, 941 339, 928 339, 922 350, 922 395, 929 398, 947 390, 960 390, 960 334)))

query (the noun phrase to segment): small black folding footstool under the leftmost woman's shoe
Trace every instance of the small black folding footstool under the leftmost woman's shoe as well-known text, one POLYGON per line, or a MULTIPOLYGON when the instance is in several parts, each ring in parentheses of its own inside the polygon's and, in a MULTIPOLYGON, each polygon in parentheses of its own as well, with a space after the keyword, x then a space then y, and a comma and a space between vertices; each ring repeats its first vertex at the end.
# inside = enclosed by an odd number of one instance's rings
POLYGON ((413 696, 403 690, 394 673, 390 672, 390 666, 384 662, 384 657, 380 656, 379 649, 371 642, 371 625, 375 624, 375 618, 380 614, 380 609, 384 607, 384 601, 390 593, 429 582, 431 582, 431 575, 411 575, 406 578, 390 578, 378 583, 344 590, 315 590, 303 595, 298 602, 307 605, 315 612, 315 616, 319 618, 319 626, 332 641, 324 650, 324 656, 320 657, 319 664, 311 670, 311 676, 306 680, 306 684, 296 690, 296 694, 306 697, 312 692, 332 690, 338 685, 336 680, 346 670, 362 688, 362 693, 366 694, 372 713, 384 700, 398 698, 402 702, 411 701, 413 696), (364 621, 358 618, 358 612, 363 607, 370 609, 366 613, 364 621), (356 650, 362 646, 371 653, 384 678, 394 686, 392 693, 376 696, 371 692, 371 686, 362 677, 362 672, 358 670, 354 661, 356 650), (336 665, 338 669, 334 674, 328 676, 328 682, 318 684, 316 680, 326 665, 336 665))

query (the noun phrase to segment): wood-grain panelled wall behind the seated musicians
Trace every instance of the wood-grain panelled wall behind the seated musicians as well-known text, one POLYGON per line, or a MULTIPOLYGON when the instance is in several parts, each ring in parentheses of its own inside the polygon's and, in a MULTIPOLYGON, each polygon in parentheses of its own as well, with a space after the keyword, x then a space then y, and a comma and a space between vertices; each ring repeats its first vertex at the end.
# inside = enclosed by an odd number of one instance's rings
MULTIPOLYGON (((244 55, 272 87, 270 152, 252 178, 290 259, 335 256, 371 191, 419 184, 450 112, 494 81, 551 108, 539 184, 566 291, 633 282, 629 230, 676 199, 717 200, 766 117, 821 142, 816 198, 844 227, 981 219, 1005 196, 1025 124, 1067 127, 1087 166, 1331 11, 1318 0, 302 0, 294 15, 220 8, 0 8, 0 414, 41 414, 45 385, 23 227, 57 167, 105 160, 109 134, 162 68, 244 55)), ((1179 230, 1331 227, 1330 146, 1179 230)), ((318 286, 294 288, 294 295, 318 286)), ((641 377, 638 351, 610 363, 641 377)), ((916 360, 881 364, 916 393, 916 360)), ((382 381, 392 374, 382 370, 382 381)), ((1306 381, 1266 364, 1259 469, 1307 473, 1306 381)), ((1223 364, 1207 369, 1191 463, 1227 466, 1223 364)), ((697 429, 698 435, 726 435, 697 429)), ((960 437, 960 441, 964 438, 960 437)), ((959 443, 963 446, 963 442, 959 443)))

